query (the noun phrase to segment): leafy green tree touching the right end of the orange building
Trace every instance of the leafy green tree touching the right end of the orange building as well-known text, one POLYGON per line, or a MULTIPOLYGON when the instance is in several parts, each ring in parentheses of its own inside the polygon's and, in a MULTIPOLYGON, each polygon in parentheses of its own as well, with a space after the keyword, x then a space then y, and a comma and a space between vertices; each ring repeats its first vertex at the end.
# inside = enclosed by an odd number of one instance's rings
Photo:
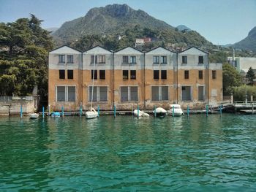
POLYGON ((240 86, 241 75, 230 64, 223 64, 222 68, 223 76, 223 95, 230 95, 233 92, 233 87, 240 86))

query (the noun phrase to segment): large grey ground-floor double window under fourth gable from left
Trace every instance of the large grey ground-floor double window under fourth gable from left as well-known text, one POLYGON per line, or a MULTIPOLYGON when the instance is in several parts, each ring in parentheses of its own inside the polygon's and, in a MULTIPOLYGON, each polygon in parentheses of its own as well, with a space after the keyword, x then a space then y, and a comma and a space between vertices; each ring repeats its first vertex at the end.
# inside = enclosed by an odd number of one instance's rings
POLYGON ((167 101, 168 99, 168 86, 151 87, 151 101, 167 101))

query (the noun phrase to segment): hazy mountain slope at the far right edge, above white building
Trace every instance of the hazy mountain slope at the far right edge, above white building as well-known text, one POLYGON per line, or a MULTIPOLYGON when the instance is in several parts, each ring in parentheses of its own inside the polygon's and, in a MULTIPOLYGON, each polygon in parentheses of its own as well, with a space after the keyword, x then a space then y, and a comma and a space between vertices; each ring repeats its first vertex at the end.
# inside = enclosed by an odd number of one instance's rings
POLYGON ((241 49, 241 50, 253 50, 256 51, 256 26, 249 31, 249 34, 246 38, 240 42, 235 43, 232 47, 241 49))

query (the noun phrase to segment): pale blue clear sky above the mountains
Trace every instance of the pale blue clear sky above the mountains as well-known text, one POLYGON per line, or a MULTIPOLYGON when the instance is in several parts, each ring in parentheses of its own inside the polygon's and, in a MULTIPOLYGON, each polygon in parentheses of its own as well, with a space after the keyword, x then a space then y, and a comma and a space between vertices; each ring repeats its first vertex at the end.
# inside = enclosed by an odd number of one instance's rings
POLYGON ((60 27, 89 9, 127 4, 171 26, 185 25, 215 45, 244 39, 256 26, 256 0, 0 0, 0 22, 36 15, 43 28, 60 27))

